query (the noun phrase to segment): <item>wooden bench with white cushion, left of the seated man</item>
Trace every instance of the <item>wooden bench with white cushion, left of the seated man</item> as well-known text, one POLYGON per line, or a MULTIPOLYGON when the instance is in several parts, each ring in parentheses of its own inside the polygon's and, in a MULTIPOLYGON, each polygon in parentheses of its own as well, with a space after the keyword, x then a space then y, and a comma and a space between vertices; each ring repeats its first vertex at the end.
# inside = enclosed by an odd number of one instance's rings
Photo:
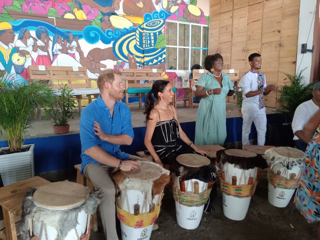
POLYGON ((74 71, 73 67, 60 67, 60 66, 43 66, 43 70, 39 70, 39 66, 28 66, 30 79, 26 79, 28 82, 32 81, 49 81, 53 89, 59 89, 67 84, 69 89, 73 89, 71 92, 75 96, 78 102, 79 113, 81 113, 82 100, 88 100, 89 103, 93 98, 97 98, 100 94, 99 88, 92 88, 91 81, 95 79, 89 79, 87 69, 84 67, 78 67, 74 71))

